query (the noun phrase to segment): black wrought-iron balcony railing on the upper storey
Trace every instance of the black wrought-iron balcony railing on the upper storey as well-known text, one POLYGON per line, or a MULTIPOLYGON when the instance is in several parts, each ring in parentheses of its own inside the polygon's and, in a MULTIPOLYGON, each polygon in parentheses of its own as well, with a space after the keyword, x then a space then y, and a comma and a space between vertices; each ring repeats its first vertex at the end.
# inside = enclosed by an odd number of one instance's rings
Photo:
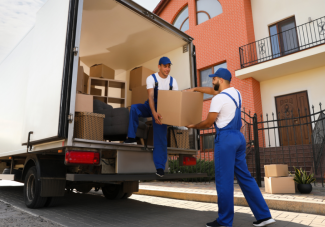
POLYGON ((325 16, 239 47, 241 68, 325 43, 325 16))

